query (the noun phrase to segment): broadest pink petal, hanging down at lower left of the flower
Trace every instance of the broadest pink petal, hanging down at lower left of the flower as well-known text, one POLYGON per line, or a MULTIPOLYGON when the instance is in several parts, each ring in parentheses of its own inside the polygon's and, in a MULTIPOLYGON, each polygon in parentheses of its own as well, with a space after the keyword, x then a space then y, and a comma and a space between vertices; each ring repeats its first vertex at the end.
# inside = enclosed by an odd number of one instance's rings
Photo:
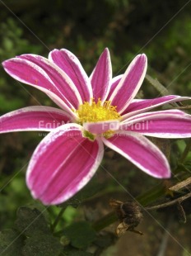
POLYGON ((77 124, 50 132, 35 149, 26 173, 33 197, 45 205, 68 200, 92 178, 103 153, 103 143, 83 137, 77 124))

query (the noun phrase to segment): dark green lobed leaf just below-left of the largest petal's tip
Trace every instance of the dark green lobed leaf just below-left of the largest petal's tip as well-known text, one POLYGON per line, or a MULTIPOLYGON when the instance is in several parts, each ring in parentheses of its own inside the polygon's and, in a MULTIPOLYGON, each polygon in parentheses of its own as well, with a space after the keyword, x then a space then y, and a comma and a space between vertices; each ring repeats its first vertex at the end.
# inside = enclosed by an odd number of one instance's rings
POLYGON ((48 223, 44 219, 43 211, 36 208, 30 209, 21 206, 17 211, 16 229, 25 235, 33 235, 35 232, 50 233, 48 223))

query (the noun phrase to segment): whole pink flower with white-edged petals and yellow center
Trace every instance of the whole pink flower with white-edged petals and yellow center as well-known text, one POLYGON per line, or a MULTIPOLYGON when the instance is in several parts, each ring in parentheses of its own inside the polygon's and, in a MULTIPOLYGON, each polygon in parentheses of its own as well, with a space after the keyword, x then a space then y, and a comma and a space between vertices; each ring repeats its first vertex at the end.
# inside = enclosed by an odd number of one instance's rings
POLYGON ((68 50, 53 50, 49 59, 21 55, 4 61, 3 67, 12 78, 45 92, 61 108, 25 107, 0 117, 1 133, 49 131, 26 173, 32 196, 45 205, 68 200, 89 182, 103 159, 104 145, 151 176, 169 178, 164 154, 143 135, 191 136, 191 116, 183 111, 147 112, 189 97, 134 99, 147 70, 146 55, 137 55, 115 78, 107 49, 90 78, 68 50))

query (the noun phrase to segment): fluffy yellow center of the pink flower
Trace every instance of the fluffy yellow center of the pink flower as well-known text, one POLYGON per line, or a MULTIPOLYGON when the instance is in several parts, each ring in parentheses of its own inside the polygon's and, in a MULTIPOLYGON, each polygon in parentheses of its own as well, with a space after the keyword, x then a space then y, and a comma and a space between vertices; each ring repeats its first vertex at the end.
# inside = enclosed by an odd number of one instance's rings
POLYGON ((83 124, 85 122, 119 120, 120 114, 116 108, 116 106, 111 106, 109 101, 102 103, 99 98, 97 102, 94 99, 91 102, 84 102, 75 112, 79 123, 83 124))

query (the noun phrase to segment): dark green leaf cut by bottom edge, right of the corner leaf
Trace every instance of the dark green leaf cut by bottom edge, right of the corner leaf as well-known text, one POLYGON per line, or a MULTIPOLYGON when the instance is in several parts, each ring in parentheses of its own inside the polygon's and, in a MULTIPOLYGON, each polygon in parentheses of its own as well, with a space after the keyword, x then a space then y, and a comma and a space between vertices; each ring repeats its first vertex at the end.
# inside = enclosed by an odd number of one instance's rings
POLYGON ((58 256, 63 250, 59 239, 53 235, 46 235, 42 232, 35 233, 26 239, 23 256, 58 256))

